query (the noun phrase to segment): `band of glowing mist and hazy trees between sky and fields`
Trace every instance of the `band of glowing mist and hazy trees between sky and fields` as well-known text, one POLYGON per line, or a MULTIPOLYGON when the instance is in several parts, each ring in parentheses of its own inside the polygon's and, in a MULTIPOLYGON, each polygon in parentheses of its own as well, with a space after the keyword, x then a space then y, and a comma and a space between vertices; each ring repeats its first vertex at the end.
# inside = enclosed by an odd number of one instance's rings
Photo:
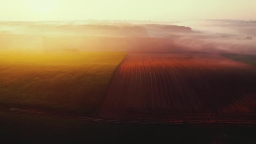
POLYGON ((256 21, 1 21, 0 48, 256 54, 256 21))

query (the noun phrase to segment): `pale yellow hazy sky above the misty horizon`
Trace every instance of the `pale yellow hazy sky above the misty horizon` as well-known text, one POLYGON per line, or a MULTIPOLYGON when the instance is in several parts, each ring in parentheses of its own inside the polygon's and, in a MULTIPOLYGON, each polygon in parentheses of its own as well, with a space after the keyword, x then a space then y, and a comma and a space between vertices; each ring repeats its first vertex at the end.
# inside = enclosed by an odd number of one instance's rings
POLYGON ((256 0, 0 0, 0 21, 256 19, 256 0))

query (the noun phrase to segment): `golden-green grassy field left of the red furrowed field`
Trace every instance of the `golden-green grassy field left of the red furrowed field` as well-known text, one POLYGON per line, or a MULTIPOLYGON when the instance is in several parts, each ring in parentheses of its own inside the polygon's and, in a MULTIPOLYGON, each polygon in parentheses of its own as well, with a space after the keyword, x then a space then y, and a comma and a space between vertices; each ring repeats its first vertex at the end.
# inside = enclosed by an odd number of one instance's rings
POLYGON ((0 51, 0 105, 95 115, 125 55, 0 51))

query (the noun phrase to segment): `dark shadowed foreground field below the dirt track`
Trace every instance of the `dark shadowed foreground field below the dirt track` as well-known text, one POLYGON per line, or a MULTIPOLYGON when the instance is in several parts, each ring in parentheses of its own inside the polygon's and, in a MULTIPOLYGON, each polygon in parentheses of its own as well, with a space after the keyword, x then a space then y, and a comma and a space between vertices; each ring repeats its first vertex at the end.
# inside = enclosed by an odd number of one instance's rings
POLYGON ((172 144, 255 144, 255 128, 196 125, 99 123, 65 117, 0 111, 2 142, 155 142, 172 144))

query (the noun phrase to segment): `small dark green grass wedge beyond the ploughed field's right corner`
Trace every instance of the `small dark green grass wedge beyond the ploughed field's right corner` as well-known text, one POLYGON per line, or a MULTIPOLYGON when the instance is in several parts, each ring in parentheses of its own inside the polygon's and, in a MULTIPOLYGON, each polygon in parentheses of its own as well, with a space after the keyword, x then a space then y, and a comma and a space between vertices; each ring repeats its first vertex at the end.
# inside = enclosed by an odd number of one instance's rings
POLYGON ((245 64, 251 64, 256 66, 256 55, 248 55, 248 54, 222 54, 222 56, 227 57, 229 59, 240 61, 245 64))

